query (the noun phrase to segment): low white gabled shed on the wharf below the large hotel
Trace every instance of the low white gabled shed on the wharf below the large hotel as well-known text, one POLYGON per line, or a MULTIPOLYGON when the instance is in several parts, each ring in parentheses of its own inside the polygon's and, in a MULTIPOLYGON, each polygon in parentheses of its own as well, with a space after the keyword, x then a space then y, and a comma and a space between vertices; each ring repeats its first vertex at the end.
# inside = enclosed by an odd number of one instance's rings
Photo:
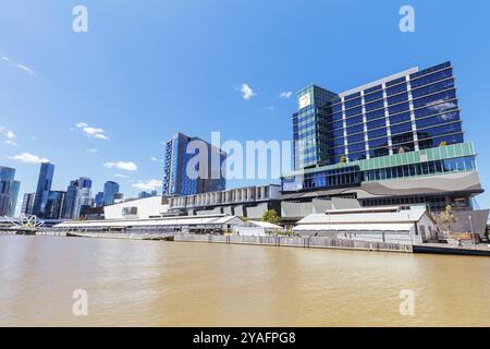
POLYGON ((333 209, 301 219, 293 232, 362 241, 421 243, 437 240, 436 220, 424 206, 333 209))

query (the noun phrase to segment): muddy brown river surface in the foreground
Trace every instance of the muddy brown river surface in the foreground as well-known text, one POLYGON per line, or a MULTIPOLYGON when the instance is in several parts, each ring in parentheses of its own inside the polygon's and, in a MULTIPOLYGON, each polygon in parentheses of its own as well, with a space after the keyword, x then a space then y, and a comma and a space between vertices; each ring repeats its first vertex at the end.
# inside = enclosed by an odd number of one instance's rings
POLYGON ((0 326, 21 325, 490 326, 490 258, 0 236, 0 326))

